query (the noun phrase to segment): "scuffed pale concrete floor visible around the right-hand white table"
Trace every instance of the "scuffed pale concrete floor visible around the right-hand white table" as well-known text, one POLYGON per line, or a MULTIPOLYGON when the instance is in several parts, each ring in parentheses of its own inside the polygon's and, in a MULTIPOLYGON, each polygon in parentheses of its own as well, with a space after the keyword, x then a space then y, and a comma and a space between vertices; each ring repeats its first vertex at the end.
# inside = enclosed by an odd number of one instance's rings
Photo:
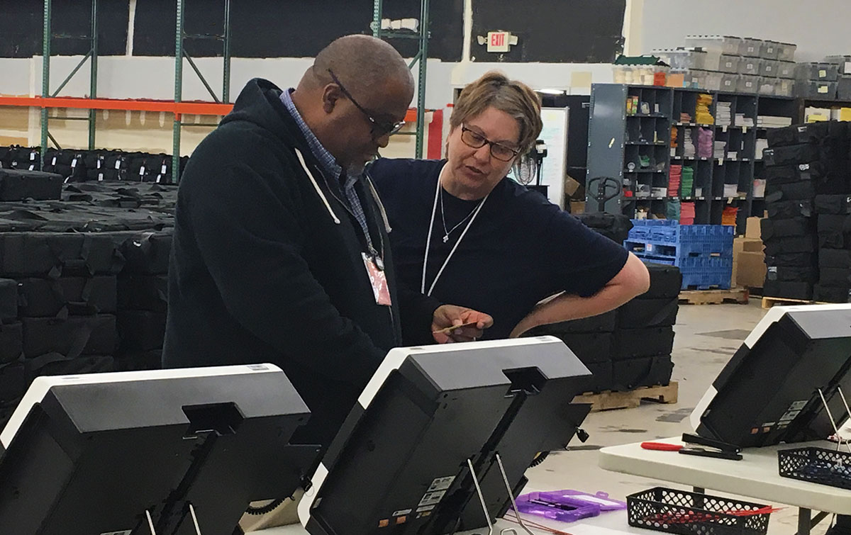
MULTIPOLYGON (((528 488, 603 491, 612 498, 624 499, 632 492, 664 486, 660 481, 600 469, 597 450, 692 431, 688 417, 694 406, 765 312, 758 298, 749 304, 681 305, 674 327, 672 377, 679 382, 678 402, 644 402, 638 408, 591 413, 582 426, 591 435, 589 440, 585 444, 574 440, 567 452, 551 454, 544 463, 528 470, 528 488)), ((769 535, 797 532, 797 509, 783 509, 771 518, 769 535)), ((822 522, 813 533, 823 533, 825 527, 826 522, 822 522)))

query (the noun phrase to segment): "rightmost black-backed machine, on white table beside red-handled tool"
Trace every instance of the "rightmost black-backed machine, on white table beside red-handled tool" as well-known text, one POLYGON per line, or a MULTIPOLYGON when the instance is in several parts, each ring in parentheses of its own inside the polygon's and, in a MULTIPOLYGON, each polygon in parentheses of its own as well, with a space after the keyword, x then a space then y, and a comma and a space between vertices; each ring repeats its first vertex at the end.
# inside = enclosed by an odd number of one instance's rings
POLYGON ((713 382, 708 406, 698 407, 700 435, 741 447, 824 440, 834 428, 819 389, 837 425, 847 418, 837 387, 851 398, 851 305, 769 314, 780 316, 754 329, 713 382))

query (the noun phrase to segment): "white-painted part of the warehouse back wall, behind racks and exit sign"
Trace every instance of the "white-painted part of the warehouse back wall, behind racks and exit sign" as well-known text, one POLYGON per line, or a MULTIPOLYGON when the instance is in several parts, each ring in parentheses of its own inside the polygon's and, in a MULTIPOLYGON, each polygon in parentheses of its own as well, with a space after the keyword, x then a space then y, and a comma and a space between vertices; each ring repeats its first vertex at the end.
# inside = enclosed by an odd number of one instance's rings
MULTIPOLYGON (((469 3, 469 0, 468 0, 469 3)), ((629 54, 641 54, 651 48, 683 44, 688 33, 722 33, 747 37, 771 38, 799 45, 800 60, 818 60, 825 54, 851 53, 851 32, 837 13, 847 9, 848 0, 627 0, 624 35, 629 54)), ((469 17, 469 11, 467 17, 469 17)), ((467 20, 469 22, 469 20, 467 20)), ((469 31, 469 30, 467 30, 469 31)), ((569 36, 568 36, 569 38, 569 36)), ((469 45, 465 57, 475 55, 469 45)), ((54 57, 51 60, 51 84, 55 88, 77 65, 80 57, 54 57)), ((221 90, 221 60, 198 58, 198 67, 218 93, 221 90)), ((310 58, 234 58, 231 62, 231 99, 251 77, 266 77, 282 87, 293 86, 310 58)), ((426 83, 426 107, 444 110, 448 123, 454 88, 470 83, 490 69, 505 71, 533 88, 560 88, 572 94, 588 94, 591 83, 612 82, 607 64, 535 64, 459 63, 429 60, 426 83)), ((64 96, 86 96, 89 67, 83 66, 62 91, 64 96)), ((41 93, 41 59, 0 59, 0 94, 35 95, 41 93)), ((98 94, 113 99, 174 98, 174 59, 168 57, 102 56, 99 62, 98 94)), ((184 100, 210 100, 201 82, 184 62, 184 100)), ((57 113, 66 113, 58 111, 57 113)), ((71 111, 71 114, 77 113, 71 111)), ((170 117, 148 117, 137 112, 112 112, 99 117, 98 145, 128 150, 171 151, 170 117), (122 117, 118 117, 118 116, 122 117), (101 124, 102 123, 102 124, 101 124), (115 129, 115 131, 113 131, 115 129)), ((216 117, 187 117, 189 121, 214 122, 216 117)), ((0 108, 0 143, 37 144, 37 111, 0 108)), ((57 139, 68 145, 85 145, 85 123, 51 123, 57 139)), ((208 129, 186 128, 181 152, 189 153, 208 129)), ((445 129, 444 129, 445 132, 445 129)), ((388 155, 413 154, 408 136, 394 139, 388 155)))

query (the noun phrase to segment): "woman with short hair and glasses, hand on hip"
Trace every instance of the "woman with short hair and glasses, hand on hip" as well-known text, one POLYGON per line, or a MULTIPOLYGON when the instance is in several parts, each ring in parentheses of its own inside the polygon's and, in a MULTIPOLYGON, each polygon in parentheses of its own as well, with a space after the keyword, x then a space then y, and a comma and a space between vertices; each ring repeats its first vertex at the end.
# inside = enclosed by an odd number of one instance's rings
POLYGON ((540 130, 534 91, 488 72, 454 106, 447 159, 368 168, 389 215, 400 280, 492 316, 484 339, 602 314, 649 286, 634 255, 506 178, 540 130))

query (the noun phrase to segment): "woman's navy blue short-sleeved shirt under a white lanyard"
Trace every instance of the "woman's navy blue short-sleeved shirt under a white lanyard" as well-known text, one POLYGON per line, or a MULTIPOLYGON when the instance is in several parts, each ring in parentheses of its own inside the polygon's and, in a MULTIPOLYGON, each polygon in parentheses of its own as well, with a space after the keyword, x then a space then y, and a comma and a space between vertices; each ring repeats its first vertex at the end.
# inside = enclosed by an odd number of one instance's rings
MULTIPOLYGON (((397 276, 420 289, 426 234, 445 160, 380 159, 368 168, 390 219, 397 276)), ((475 209, 443 191, 446 228, 475 209)), ((466 223, 443 242, 440 204, 431 232, 426 292, 466 223)), ((623 268, 627 253, 569 213, 511 179, 502 179, 467 231, 432 296, 494 317, 483 339, 504 339, 541 299, 567 292, 588 297, 623 268)))

